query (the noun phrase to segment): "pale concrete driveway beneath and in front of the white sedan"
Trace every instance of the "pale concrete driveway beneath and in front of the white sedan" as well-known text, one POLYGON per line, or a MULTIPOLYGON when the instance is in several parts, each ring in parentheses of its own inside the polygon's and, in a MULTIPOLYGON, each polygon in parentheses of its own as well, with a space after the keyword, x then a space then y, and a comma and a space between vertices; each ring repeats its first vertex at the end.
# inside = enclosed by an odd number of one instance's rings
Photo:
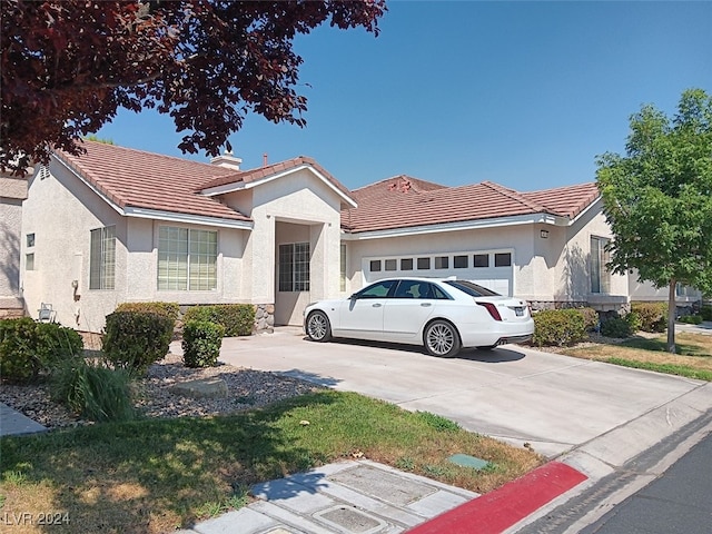
MULTIPOLYGON (((463 350, 442 359, 419 347, 305 338, 300 328, 225 338, 220 359, 235 366, 279 372, 335 389, 358 392, 411 411, 427 411, 464 428, 517 446, 528 443, 547 457, 700 389, 706 383, 627 369, 504 345, 463 350)), ((678 403, 679 404, 679 403, 678 403)), ((665 412, 674 429, 686 409, 665 412)))

